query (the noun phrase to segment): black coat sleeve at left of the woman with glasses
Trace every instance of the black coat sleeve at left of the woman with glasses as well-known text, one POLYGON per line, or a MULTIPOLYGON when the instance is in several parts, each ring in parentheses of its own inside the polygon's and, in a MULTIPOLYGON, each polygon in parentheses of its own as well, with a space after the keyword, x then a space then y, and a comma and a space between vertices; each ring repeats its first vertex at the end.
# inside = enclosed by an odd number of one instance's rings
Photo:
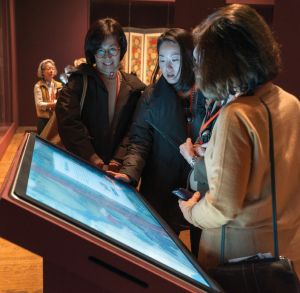
POLYGON ((64 146, 72 153, 88 160, 95 150, 91 144, 88 130, 80 117, 82 90, 82 76, 71 75, 68 83, 59 93, 55 112, 58 132, 64 146))

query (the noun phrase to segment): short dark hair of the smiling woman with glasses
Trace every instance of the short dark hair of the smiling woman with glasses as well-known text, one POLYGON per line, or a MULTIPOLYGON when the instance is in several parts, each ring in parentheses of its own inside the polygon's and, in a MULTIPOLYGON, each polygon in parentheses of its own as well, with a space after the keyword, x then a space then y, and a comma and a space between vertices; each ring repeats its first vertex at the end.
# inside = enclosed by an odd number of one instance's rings
POLYGON ((120 60, 127 50, 127 40, 122 26, 112 18, 103 18, 95 21, 85 36, 84 51, 88 64, 95 64, 95 53, 102 42, 109 36, 116 38, 120 46, 120 60))

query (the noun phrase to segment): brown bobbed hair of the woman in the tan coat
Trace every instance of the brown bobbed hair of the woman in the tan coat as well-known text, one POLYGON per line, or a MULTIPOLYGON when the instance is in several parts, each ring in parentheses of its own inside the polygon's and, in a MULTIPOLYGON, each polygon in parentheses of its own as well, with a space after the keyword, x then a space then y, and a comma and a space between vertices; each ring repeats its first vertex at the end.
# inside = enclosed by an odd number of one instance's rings
POLYGON ((280 71, 279 46, 267 23, 248 5, 217 10, 193 33, 196 83, 207 98, 251 95, 280 71))

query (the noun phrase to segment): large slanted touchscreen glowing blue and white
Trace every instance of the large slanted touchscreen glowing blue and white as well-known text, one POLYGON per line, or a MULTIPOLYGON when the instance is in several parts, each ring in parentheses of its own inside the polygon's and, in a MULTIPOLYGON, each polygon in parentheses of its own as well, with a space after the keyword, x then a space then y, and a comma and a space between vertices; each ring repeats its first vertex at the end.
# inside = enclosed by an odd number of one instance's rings
POLYGON ((16 195, 183 279, 211 288, 210 279, 129 185, 33 134, 18 177, 16 195))

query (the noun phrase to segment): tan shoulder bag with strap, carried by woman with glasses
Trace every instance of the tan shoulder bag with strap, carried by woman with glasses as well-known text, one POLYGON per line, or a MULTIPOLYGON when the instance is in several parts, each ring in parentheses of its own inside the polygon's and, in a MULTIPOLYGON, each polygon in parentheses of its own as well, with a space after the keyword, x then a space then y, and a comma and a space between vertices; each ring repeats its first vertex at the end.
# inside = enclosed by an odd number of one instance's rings
MULTIPOLYGON (((83 75, 83 88, 82 88, 82 94, 81 94, 81 99, 80 99, 80 115, 81 115, 84 101, 85 101, 87 84, 88 84, 87 75, 84 74, 83 75)), ((58 133, 57 117, 56 117, 55 111, 53 112, 51 118, 49 119, 45 128, 41 132, 40 137, 42 137, 43 139, 61 147, 61 148, 64 148, 64 145, 63 145, 62 140, 58 133)))

